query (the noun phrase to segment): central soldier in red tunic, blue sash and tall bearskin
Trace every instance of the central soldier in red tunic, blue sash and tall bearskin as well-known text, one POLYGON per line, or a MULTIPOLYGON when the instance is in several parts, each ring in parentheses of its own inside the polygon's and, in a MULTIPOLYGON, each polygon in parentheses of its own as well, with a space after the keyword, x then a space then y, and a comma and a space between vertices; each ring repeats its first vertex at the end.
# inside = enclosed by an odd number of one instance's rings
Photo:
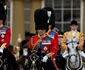
MULTIPOLYGON (((38 55, 40 55, 40 60, 47 63, 48 70, 57 70, 56 65, 53 65, 53 59, 57 53, 56 41, 55 39, 49 37, 46 32, 48 31, 48 15, 45 9, 37 9, 34 13, 35 30, 37 35, 30 39, 28 45, 29 50, 41 50, 38 55), (51 61, 48 61, 51 58, 51 61), (51 62, 52 65, 49 64, 51 62)), ((45 69, 46 70, 46 69, 45 69)))

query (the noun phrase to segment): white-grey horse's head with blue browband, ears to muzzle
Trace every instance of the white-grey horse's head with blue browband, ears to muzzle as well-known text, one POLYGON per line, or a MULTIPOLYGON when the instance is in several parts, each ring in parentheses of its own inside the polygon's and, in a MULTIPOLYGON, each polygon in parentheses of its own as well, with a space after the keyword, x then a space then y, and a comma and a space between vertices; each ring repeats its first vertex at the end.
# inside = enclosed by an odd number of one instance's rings
POLYGON ((68 52, 69 52, 69 58, 70 58, 70 62, 75 65, 75 63, 77 62, 77 37, 74 39, 69 39, 67 38, 67 47, 68 47, 68 52))

